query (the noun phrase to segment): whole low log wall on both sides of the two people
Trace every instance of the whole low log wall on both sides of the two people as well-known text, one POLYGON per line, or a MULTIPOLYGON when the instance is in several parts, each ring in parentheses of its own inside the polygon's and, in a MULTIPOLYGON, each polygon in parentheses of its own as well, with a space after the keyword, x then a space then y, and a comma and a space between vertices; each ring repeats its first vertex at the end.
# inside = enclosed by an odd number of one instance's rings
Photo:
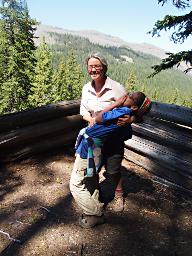
MULTIPOLYGON (((0 117, 0 161, 19 160, 73 145, 81 127, 79 101, 0 117)), ((192 190, 192 109, 153 102, 144 122, 132 124, 125 159, 192 190)))

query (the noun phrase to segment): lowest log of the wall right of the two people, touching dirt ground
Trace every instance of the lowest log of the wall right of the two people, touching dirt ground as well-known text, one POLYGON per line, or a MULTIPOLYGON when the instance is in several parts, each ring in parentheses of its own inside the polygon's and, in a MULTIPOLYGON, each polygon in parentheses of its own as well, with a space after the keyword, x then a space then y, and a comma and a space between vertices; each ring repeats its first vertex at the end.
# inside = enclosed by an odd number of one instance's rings
POLYGON ((154 160, 133 150, 125 148, 125 159, 145 168, 154 175, 174 182, 186 189, 192 190, 192 176, 187 175, 185 170, 177 172, 174 167, 167 165, 161 160, 154 160))

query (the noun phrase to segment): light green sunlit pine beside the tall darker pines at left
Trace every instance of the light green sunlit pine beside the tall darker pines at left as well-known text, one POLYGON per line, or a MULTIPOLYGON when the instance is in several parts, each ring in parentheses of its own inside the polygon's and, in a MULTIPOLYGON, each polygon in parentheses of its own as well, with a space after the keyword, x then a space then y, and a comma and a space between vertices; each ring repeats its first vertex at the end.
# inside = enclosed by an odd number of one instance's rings
POLYGON ((53 100, 52 91, 52 53, 43 42, 36 50, 36 67, 29 101, 32 107, 46 105, 53 100))

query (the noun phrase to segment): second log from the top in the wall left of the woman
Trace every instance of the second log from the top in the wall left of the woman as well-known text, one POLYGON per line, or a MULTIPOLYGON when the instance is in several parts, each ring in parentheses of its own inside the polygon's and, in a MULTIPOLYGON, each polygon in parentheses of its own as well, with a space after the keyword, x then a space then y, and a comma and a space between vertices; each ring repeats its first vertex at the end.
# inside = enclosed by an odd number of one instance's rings
POLYGON ((65 134, 65 131, 74 129, 80 130, 84 122, 80 115, 73 115, 54 119, 48 122, 30 125, 21 129, 0 135, 0 150, 14 148, 22 143, 27 144, 31 140, 41 140, 42 136, 56 133, 65 134))

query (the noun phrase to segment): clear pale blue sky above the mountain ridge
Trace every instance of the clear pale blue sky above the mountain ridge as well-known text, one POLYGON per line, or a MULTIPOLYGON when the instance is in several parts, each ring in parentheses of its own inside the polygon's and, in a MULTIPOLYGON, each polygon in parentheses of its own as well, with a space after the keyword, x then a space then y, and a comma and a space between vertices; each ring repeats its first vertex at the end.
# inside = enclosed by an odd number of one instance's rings
POLYGON ((26 0, 31 18, 45 25, 68 30, 96 30, 130 43, 149 43, 169 52, 191 49, 192 40, 174 44, 171 33, 160 37, 147 34, 157 20, 183 15, 171 2, 161 6, 158 0, 26 0))

